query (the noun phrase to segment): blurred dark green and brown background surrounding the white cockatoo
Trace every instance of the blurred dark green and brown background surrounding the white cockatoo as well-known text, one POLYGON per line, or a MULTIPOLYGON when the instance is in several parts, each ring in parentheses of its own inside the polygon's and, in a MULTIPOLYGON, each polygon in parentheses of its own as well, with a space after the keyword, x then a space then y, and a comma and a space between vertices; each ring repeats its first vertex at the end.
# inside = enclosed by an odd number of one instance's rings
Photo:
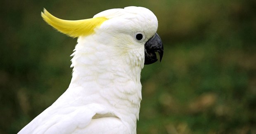
POLYGON ((76 39, 47 25, 111 8, 158 17, 161 63, 141 74, 138 134, 256 134, 256 0, 1 0, 0 134, 17 133, 69 86, 76 39))

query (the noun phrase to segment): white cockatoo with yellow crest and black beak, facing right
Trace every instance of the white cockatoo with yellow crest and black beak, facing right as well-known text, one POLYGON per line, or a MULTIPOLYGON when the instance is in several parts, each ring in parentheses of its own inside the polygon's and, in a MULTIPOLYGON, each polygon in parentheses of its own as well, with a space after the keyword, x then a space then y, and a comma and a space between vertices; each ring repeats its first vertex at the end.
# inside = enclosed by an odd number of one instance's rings
POLYGON ((91 19, 58 19, 41 13, 50 26, 78 37, 71 83, 59 99, 19 134, 136 134, 144 64, 163 56, 158 21, 144 7, 100 12, 91 19))

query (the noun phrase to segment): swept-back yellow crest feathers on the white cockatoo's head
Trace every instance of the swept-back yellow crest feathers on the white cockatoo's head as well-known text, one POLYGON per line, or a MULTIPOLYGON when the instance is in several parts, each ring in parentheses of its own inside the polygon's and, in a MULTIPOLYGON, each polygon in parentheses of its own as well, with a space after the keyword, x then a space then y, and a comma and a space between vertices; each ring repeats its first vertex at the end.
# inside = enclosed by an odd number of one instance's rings
POLYGON ((73 38, 94 33, 94 29, 107 20, 105 17, 82 19, 76 21, 63 20, 53 16, 46 9, 41 12, 41 16, 45 22, 47 22, 47 24, 73 38))

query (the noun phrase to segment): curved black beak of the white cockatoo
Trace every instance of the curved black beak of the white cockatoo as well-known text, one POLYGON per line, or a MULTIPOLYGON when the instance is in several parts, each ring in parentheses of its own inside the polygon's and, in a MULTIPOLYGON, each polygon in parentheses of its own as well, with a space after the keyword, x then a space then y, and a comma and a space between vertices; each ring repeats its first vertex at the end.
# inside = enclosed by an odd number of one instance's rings
POLYGON ((160 62, 164 54, 164 46, 159 35, 156 33, 145 43, 145 65, 155 63, 157 61, 156 53, 159 53, 160 62))

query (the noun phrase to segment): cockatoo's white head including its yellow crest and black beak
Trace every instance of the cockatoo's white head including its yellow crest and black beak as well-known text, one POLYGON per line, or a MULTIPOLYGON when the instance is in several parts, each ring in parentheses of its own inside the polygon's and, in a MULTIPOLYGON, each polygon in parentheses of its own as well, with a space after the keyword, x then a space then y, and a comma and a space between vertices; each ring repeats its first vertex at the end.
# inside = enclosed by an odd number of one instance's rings
POLYGON ((73 38, 83 40, 93 36, 98 43, 109 46, 123 60, 128 59, 135 66, 156 62, 155 52, 159 53, 160 61, 162 59, 164 48, 156 33, 158 21, 147 8, 109 9, 91 19, 76 21, 58 19, 46 9, 41 15, 47 24, 73 38))

